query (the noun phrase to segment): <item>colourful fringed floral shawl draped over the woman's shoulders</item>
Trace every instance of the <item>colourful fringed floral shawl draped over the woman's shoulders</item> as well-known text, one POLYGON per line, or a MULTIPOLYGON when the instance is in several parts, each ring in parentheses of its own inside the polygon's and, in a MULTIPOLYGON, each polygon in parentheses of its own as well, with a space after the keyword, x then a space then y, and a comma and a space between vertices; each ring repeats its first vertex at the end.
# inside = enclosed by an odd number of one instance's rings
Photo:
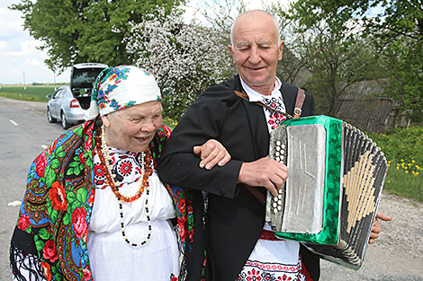
MULTIPOLYGON (((31 272, 31 280, 93 280, 86 237, 94 204, 94 142, 100 125, 101 120, 95 119, 66 131, 32 162, 11 242, 17 280, 26 280, 21 268, 31 272)), ((155 165, 169 135, 170 129, 162 126, 149 144, 155 165)), ((165 186, 174 198, 186 260, 193 242, 192 201, 184 189, 165 186)))

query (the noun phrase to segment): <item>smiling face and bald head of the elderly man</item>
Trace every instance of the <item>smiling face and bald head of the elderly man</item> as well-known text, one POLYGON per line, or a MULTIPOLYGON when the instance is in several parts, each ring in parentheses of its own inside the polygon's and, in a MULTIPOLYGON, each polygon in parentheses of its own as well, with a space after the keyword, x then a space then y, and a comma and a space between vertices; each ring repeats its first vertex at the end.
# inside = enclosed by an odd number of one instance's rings
POLYGON ((234 46, 229 46, 229 52, 238 74, 252 89, 270 94, 284 46, 277 43, 275 22, 266 13, 246 15, 238 18, 232 36, 234 46))

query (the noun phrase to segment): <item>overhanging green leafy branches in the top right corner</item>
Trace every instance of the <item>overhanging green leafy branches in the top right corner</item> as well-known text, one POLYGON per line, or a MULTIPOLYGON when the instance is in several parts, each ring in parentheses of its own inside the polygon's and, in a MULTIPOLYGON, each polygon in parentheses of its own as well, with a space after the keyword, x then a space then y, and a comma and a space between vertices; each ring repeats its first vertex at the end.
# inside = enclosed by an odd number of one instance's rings
POLYGON ((335 31, 362 27, 374 40, 387 78, 385 94, 399 101, 410 117, 423 120, 423 2, 421 0, 298 0, 293 4, 307 30, 327 22, 335 31))

